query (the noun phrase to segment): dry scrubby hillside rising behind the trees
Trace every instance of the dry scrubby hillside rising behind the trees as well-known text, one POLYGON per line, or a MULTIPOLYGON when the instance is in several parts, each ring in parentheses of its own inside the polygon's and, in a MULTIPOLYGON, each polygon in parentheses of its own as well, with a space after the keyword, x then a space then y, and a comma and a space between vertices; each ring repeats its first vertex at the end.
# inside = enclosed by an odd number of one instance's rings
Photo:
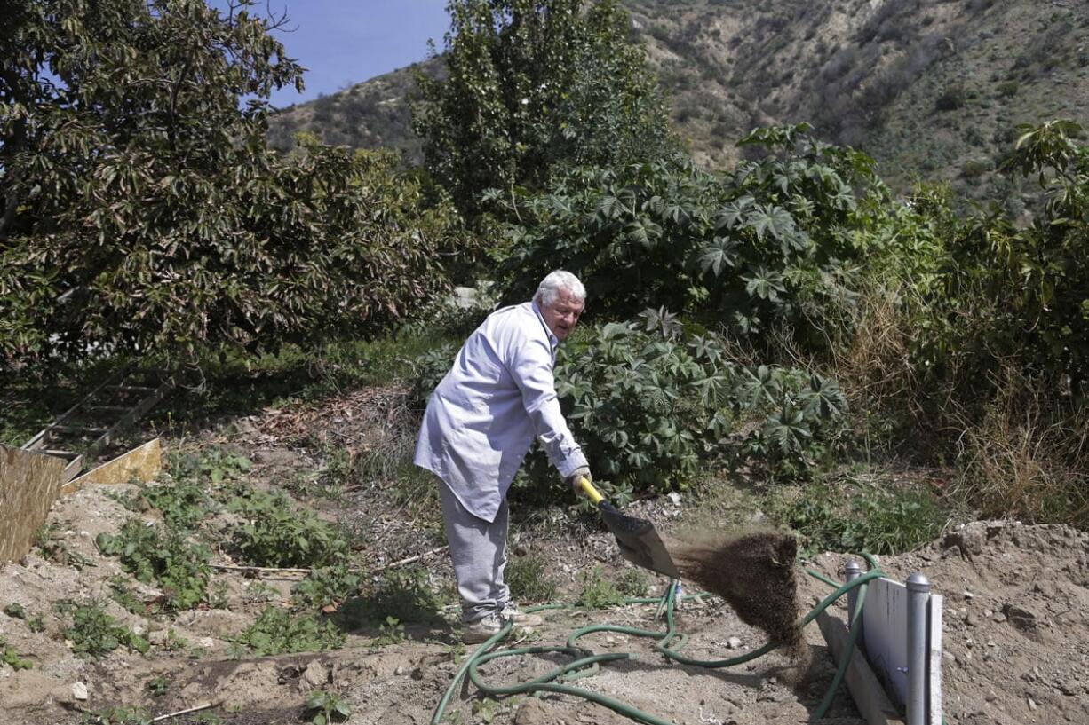
MULTIPOLYGON (((1061 0, 626 0, 696 161, 726 168, 755 125, 809 121, 874 156, 894 187, 954 182, 1006 196, 991 171, 1016 124, 1080 119, 1089 100, 1089 13, 1061 0), (990 186, 989 186, 990 185, 990 186)), ((408 126, 413 72, 284 109, 271 136, 391 146, 419 159, 408 126)))

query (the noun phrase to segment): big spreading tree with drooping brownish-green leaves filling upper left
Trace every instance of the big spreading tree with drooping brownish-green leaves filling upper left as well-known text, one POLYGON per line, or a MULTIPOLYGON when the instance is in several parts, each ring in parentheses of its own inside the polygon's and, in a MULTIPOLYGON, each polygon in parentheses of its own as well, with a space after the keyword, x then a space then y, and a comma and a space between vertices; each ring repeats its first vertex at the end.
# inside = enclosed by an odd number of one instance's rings
POLYGON ((376 333, 443 285, 453 216, 392 158, 267 147, 303 70, 252 5, 5 3, 0 366, 376 333))

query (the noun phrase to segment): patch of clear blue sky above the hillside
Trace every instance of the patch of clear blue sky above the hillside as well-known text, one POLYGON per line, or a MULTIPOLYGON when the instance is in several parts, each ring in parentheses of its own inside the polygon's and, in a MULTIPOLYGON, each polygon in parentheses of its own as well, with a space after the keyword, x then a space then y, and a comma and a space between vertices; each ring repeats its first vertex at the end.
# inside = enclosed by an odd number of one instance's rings
MULTIPOLYGON (((224 0, 209 0, 217 8, 224 0)), ((264 12, 264 2, 254 11, 264 12)), ((352 84, 427 58, 428 38, 442 50, 450 27, 446 0, 269 0, 291 19, 291 33, 278 33, 290 58, 308 69, 302 94, 283 88, 272 94, 277 108, 334 94, 352 84)))

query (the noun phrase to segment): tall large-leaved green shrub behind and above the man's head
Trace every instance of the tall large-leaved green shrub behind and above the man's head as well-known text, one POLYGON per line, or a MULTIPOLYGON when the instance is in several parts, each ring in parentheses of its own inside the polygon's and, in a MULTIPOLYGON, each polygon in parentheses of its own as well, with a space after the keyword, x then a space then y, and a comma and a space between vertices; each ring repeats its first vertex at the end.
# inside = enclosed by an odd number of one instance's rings
POLYGON ((886 191, 865 155, 811 139, 807 124, 758 128, 760 158, 718 177, 676 157, 578 169, 552 191, 492 200, 510 219, 506 298, 550 270, 579 275, 613 319, 665 307, 754 341, 778 325, 816 347, 822 303, 851 296, 852 267, 886 191))

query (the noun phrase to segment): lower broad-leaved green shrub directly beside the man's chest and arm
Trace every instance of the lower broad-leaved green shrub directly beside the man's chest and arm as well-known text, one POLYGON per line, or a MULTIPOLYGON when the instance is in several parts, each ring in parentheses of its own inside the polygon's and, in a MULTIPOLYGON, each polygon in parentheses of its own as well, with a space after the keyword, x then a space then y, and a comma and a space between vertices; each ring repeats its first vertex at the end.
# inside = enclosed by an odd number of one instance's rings
MULTIPOLYGON (((605 491, 684 486, 718 459, 804 474, 827 451, 846 406, 834 380, 748 368, 711 334, 683 339, 664 310, 568 340, 556 355, 556 394, 605 491)), ((550 483, 543 456, 526 478, 550 483)))

